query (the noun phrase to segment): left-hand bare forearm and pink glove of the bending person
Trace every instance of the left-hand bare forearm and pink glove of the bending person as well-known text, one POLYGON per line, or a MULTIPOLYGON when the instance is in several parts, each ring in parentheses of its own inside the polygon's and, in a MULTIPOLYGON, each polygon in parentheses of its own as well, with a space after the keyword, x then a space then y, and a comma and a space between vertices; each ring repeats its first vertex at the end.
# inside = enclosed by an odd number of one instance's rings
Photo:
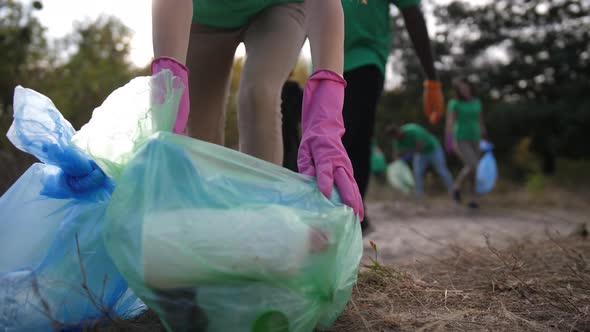
POLYGON ((188 70, 184 66, 188 50, 192 0, 153 0, 152 1, 152 40, 155 60, 152 74, 168 69, 184 84, 180 99, 174 132, 185 134, 188 120, 189 94, 188 70))

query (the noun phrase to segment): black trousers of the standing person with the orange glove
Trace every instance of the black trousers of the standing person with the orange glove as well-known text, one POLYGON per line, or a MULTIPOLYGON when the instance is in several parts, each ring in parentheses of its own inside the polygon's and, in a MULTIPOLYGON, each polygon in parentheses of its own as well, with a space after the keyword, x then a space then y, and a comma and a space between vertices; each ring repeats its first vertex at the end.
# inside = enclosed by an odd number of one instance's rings
POLYGON ((348 152, 354 178, 365 198, 371 173, 371 139, 375 126, 377 104, 383 92, 385 77, 375 65, 344 72, 344 127, 342 143, 348 152))

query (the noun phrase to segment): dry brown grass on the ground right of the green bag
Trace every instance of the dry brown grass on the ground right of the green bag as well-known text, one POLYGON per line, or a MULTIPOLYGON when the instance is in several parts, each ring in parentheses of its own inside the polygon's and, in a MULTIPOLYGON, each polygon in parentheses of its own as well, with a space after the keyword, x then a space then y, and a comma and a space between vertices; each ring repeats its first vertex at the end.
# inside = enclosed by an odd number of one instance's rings
POLYGON ((453 252, 400 270, 373 262, 333 331, 590 331, 589 240, 453 252))

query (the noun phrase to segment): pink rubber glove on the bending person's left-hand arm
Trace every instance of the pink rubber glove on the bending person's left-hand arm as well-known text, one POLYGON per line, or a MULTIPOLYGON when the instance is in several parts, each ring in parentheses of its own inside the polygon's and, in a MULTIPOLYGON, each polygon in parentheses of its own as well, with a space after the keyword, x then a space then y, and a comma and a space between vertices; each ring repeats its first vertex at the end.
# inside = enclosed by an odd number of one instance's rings
POLYGON ((174 123, 173 132, 179 135, 186 135, 186 123, 190 113, 190 100, 188 96, 188 69, 174 58, 160 57, 152 61, 152 75, 160 71, 168 69, 172 74, 178 77, 182 84, 184 84, 184 92, 180 98, 178 105, 178 113, 176 114, 176 122, 174 123))

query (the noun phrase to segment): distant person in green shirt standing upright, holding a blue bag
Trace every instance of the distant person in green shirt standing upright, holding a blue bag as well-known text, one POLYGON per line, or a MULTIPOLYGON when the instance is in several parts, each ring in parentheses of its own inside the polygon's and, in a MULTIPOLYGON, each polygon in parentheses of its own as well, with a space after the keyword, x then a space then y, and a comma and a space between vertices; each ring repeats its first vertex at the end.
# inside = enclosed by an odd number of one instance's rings
POLYGON ((481 101, 474 97, 469 84, 463 79, 453 80, 456 98, 451 99, 447 106, 446 147, 447 151, 455 151, 463 168, 455 181, 453 197, 461 201, 461 187, 466 179, 471 179, 470 208, 478 208, 475 195, 475 176, 480 159, 479 143, 487 136, 481 111, 481 101))

